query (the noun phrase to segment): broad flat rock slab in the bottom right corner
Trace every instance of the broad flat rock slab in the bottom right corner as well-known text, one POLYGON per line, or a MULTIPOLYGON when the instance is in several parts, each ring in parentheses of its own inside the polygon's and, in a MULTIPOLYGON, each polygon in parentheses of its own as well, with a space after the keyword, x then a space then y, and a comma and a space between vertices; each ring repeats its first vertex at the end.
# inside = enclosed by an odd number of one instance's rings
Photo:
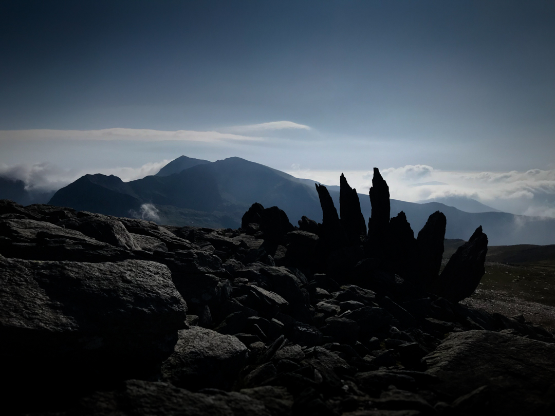
POLYGON ((484 414, 544 414, 555 403, 555 344, 493 331, 451 334, 425 357, 435 389, 484 414), (463 395, 478 390, 472 396, 463 395), (480 403, 476 403, 480 402, 480 403), (551 406, 551 407, 550 407, 551 406))

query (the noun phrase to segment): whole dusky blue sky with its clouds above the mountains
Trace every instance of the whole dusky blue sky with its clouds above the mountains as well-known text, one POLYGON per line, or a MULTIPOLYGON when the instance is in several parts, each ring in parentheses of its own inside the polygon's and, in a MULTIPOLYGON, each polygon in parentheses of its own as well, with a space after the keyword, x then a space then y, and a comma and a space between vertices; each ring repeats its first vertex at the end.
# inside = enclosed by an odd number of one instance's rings
POLYGON ((240 156, 364 193, 376 166, 397 199, 555 216, 554 74, 551 0, 4 0, 0 175, 240 156))

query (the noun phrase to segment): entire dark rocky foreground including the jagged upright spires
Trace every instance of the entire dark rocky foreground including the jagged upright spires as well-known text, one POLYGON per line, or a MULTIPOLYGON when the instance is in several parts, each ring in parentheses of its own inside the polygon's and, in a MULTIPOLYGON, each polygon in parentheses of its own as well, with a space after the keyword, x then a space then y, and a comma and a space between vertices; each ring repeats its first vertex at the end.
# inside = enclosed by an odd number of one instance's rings
POLYGON ((254 204, 207 229, 0 201, 2 414, 555 414, 555 338, 461 305, 481 227, 441 271, 377 169, 322 224, 254 204), (390 215, 393 216, 390 219, 390 215), (368 229, 366 230, 366 224, 368 229))

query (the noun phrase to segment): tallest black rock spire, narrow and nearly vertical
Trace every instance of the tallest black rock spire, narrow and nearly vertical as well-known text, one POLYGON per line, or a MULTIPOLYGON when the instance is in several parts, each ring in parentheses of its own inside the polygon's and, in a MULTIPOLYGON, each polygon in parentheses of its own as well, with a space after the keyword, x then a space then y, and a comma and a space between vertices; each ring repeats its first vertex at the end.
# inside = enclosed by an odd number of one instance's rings
POLYGON ((380 174, 378 168, 374 168, 372 186, 370 187, 370 203, 372 204, 372 215, 368 222, 368 236, 372 241, 383 241, 390 217, 389 186, 380 174))

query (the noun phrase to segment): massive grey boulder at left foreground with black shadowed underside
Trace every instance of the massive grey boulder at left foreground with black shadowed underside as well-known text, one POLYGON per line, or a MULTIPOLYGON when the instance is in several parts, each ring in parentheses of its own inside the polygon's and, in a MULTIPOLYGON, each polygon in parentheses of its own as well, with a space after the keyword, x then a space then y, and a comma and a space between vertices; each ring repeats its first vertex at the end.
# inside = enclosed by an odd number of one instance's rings
POLYGON ((2 258, 0 280, 1 357, 16 378, 148 374, 184 327, 185 301, 159 263, 2 258))

